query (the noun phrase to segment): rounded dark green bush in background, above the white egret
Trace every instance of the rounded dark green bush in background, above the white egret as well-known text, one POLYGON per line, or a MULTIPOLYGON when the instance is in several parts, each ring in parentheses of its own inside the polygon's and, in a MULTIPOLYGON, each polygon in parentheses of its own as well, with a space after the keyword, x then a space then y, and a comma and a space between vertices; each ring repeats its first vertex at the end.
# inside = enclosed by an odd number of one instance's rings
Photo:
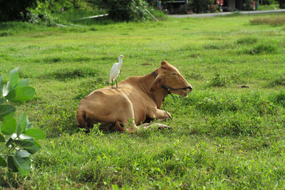
POLYGON ((101 6, 114 21, 144 21, 148 17, 143 0, 102 0, 101 6))

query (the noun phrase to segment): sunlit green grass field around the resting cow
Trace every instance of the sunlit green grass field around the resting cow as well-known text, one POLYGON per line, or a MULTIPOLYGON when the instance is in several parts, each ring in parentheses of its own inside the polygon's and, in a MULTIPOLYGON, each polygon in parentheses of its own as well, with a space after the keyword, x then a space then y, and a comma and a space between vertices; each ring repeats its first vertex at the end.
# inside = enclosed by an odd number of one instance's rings
MULTIPOLYGON (((31 175, 0 169, 1 186, 27 189, 284 189, 284 14, 46 27, 0 23, 0 74, 20 67, 36 97, 16 105, 48 137, 31 175), (259 22, 257 22, 259 21, 259 22), (78 102, 108 83, 146 75, 161 60, 192 85, 167 97, 172 130, 89 134, 78 102), (240 88, 249 85, 249 88, 240 88)), ((108 22, 107 22, 108 23, 108 22)))

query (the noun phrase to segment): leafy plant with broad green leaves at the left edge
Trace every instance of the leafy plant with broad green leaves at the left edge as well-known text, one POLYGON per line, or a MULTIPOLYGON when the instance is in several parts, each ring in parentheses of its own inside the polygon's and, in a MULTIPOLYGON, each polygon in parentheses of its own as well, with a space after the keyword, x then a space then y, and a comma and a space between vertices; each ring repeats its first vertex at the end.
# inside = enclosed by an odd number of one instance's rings
POLYGON ((26 114, 22 114, 18 122, 14 118, 16 108, 9 102, 26 102, 35 94, 28 79, 19 80, 18 70, 11 70, 6 85, 4 75, 0 77, 0 167, 8 167, 10 171, 19 171, 21 176, 26 176, 31 170, 31 154, 41 149, 34 139, 44 139, 46 134, 32 129, 26 114))

